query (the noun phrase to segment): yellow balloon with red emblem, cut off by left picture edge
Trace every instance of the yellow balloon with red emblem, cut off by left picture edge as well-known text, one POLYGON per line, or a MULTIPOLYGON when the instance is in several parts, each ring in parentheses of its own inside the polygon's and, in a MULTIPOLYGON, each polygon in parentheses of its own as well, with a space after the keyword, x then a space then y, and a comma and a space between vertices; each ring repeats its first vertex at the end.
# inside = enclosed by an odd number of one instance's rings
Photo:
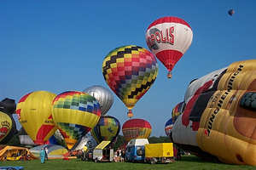
POLYGON ((15 133, 17 129, 14 118, 0 111, 0 144, 7 144, 15 133))

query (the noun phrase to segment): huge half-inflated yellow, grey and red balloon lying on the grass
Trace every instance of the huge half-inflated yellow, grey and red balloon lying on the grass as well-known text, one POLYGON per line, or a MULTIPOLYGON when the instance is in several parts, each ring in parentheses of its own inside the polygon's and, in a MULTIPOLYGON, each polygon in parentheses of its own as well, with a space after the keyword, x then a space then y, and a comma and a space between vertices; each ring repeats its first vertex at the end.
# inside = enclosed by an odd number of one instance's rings
POLYGON ((256 165, 256 59, 232 63, 189 84, 172 128, 177 144, 220 161, 256 165))

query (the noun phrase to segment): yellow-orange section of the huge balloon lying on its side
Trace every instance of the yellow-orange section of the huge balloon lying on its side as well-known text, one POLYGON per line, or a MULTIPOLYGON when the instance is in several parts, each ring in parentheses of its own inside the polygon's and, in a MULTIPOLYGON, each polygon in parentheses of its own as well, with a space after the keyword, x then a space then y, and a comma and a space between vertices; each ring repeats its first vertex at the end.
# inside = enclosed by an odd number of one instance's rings
POLYGON ((227 163, 256 165, 256 59, 233 63, 201 116, 197 142, 227 163))

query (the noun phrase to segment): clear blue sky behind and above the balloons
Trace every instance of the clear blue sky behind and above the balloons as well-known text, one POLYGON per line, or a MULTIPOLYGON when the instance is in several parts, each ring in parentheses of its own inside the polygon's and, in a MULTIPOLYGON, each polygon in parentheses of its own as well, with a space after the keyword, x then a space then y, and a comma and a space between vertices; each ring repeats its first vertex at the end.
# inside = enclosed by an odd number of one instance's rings
MULTIPOLYGON (((1 1, 0 99, 18 102, 36 90, 60 94, 92 85, 108 88, 102 76, 108 52, 130 44, 148 48, 144 36, 149 24, 177 16, 192 27, 192 44, 171 80, 158 60, 156 81, 133 109, 134 118, 150 122, 151 136, 166 135, 172 108, 183 101, 192 79, 235 61, 256 59, 255 8, 254 0, 1 1), (235 9, 232 17, 230 8, 235 9)), ((126 112, 114 94, 108 115, 123 124, 126 112)))

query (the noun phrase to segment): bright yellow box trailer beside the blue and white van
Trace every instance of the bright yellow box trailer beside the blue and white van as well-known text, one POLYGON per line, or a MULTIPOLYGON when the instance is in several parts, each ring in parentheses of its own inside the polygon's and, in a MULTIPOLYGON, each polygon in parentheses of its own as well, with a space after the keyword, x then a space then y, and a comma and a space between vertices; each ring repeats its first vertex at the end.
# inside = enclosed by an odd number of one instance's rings
POLYGON ((172 143, 145 144, 145 161, 151 164, 169 163, 174 161, 173 144, 172 143))

